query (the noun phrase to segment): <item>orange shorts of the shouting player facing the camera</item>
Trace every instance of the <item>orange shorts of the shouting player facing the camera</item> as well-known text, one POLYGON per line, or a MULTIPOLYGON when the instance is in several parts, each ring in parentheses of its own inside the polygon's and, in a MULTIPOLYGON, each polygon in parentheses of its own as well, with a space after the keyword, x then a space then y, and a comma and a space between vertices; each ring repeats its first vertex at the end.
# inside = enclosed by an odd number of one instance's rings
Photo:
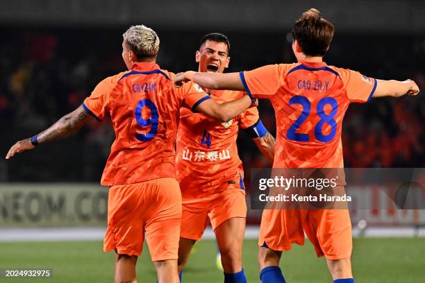
POLYGON ((180 237, 199 241, 209 221, 215 230, 233 217, 247 217, 243 189, 226 189, 202 198, 183 198, 180 237))

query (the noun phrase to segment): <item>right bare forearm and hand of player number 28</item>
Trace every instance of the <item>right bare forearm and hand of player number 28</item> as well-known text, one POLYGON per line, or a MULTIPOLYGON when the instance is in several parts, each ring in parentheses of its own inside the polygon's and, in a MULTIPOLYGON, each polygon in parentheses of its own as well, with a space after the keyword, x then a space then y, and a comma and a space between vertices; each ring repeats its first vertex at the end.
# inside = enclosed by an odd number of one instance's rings
POLYGON ((393 96, 400 97, 405 94, 416 95, 419 87, 413 80, 377 80, 376 91, 373 97, 393 96))

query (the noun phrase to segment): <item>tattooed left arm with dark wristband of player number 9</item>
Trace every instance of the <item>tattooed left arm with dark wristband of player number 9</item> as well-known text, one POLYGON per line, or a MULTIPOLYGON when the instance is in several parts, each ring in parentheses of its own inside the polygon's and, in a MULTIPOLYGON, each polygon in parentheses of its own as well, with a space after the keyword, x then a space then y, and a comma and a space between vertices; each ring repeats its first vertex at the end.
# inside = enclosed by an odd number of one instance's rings
POLYGON ((33 141, 31 141, 31 137, 18 141, 9 149, 6 159, 10 159, 10 157, 15 155, 15 153, 22 153, 22 151, 33 149, 37 144, 44 144, 45 142, 56 141, 57 139, 67 137, 79 130, 92 119, 93 117, 84 110, 83 105, 80 105, 80 107, 73 112, 60 118, 56 123, 47 128, 47 130, 44 130, 37 136, 33 137, 33 141))

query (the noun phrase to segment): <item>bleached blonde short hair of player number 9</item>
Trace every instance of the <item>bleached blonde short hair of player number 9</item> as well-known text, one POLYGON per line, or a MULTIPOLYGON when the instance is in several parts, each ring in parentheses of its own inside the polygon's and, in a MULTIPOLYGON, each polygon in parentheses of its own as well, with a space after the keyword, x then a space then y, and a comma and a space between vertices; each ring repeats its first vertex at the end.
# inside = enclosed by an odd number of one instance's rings
POLYGON ((144 25, 131 26, 122 35, 124 41, 138 57, 158 54, 159 37, 153 29, 144 25))

